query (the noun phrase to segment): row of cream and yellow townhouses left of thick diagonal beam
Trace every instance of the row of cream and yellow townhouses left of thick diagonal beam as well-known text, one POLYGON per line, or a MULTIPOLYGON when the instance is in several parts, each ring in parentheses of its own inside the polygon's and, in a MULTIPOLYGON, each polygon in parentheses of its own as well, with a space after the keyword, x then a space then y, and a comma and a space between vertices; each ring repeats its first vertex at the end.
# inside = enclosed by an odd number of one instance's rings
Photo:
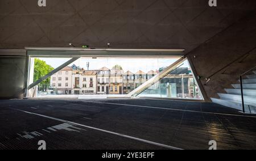
POLYGON ((67 66, 51 76, 52 93, 56 94, 128 94, 157 73, 137 73, 122 69, 84 70, 67 66))

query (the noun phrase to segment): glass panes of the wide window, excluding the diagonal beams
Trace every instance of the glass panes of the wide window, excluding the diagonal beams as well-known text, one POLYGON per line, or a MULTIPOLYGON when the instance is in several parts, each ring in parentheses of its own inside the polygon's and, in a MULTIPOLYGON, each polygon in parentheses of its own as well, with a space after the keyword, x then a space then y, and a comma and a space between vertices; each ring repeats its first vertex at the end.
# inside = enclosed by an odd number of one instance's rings
MULTIPOLYGON (((71 58, 33 58, 30 84, 71 58)), ((126 96, 179 58, 89 58, 64 66, 29 91, 37 98, 105 98, 126 96)), ((202 99, 187 61, 144 90, 139 97, 202 99)))

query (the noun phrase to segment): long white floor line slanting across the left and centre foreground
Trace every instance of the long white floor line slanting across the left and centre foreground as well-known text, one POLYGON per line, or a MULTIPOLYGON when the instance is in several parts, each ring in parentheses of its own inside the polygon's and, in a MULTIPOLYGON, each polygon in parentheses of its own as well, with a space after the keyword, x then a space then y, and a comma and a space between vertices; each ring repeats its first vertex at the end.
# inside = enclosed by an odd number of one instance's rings
MULTIPOLYGON (((11 109, 15 109, 15 108, 11 108, 11 109)), ((103 130, 103 129, 94 128, 94 127, 92 127, 92 126, 77 124, 76 122, 71 122, 71 121, 67 121, 67 120, 62 120, 62 119, 55 118, 55 117, 50 117, 50 116, 46 116, 46 115, 40 115, 40 114, 38 114, 38 113, 27 112, 27 111, 23 111, 23 110, 20 110, 20 109, 15 109, 15 110, 21 111, 21 112, 24 112, 24 113, 28 113, 28 114, 31 114, 31 115, 37 115, 37 116, 41 116, 41 117, 45 117, 45 118, 50 118, 50 119, 52 119, 52 120, 57 120, 57 121, 61 121, 61 122, 66 122, 66 123, 73 124, 73 125, 79 125, 79 126, 82 126, 82 127, 88 128, 88 129, 98 130, 98 131, 100 131, 100 132, 105 132, 105 133, 114 134, 114 135, 118 135, 118 136, 121 136, 121 137, 129 138, 129 139, 134 139, 134 140, 137 140, 137 141, 149 143, 149 144, 151 144, 151 145, 156 145, 156 146, 165 147, 165 148, 167 148, 167 149, 183 150, 183 149, 180 149, 180 148, 177 148, 177 147, 173 147, 173 146, 169 146, 169 145, 164 145, 164 144, 162 144, 162 143, 157 143, 157 142, 152 142, 152 141, 148 141, 148 140, 141 139, 141 138, 131 137, 131 136, 125 135, 125 134, 110 132, 110 131, 108 131, 108 130, 103 130)))

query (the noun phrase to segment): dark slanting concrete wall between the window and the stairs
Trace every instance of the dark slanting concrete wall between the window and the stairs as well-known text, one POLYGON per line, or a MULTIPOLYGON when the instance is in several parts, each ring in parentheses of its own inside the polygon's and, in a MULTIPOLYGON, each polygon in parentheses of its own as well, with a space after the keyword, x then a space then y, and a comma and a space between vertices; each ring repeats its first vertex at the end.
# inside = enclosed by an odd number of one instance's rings
POLYGON ((188 57, 200 75, 208 98, 239 83, 242 73, 256 66, 256 11, 200 45, 188 57), (207 83, 206 78, 210 77, 207 83))

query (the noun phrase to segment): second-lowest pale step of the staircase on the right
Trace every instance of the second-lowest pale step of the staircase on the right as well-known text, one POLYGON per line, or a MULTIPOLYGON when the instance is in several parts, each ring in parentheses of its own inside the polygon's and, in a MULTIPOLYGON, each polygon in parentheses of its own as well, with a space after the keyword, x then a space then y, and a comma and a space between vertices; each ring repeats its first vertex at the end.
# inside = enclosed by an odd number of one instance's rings
MULTIPOLYGON (((218 94, 221 99, 223 100, 235 100, 235 101, 242 101, 241 95, 232 95, 232 94, 218 94)), ((243 96, 243 100, 247 103, 256 104, 256 96, 243 96)))

